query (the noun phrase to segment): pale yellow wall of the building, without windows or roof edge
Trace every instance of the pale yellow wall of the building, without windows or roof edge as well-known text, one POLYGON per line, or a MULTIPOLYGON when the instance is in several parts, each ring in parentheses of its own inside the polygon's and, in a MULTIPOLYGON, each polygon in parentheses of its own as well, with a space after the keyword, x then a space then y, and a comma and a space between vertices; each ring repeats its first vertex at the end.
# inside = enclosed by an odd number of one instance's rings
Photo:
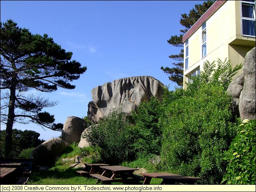
MULTIPOLYGON (((218 58, 222 61, 227 58, 231 60, 233 66, 243 63, 246 53, 255 46, 255 38, 242 36, 241 33, 241 2, 228 0, 206 21, 204 58, 202 58, 202 27, 188 38, 188 69, 185 70, 184 65, 183 86, 185 87, 185 81, 188 81, 188 75, 192 71, 199 66, 202 71, 206 60, 211 63, 218 58)), ((241 73, 242 69, 237 75, 241 73)))

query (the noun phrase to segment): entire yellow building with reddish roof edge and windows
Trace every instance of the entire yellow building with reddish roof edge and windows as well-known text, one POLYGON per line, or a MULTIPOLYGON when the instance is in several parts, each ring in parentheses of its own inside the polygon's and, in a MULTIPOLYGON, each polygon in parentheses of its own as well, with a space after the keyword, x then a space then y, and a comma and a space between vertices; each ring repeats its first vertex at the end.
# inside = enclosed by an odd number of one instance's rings
MULTIPOLYGON (((235 66, 244 62, 255 47, 255 0, 217 0, 184 34, 185 82, 200 74, 206 60, 231 60, 235 66)), ((242 73, 242 69, 238 71, 242 73)))

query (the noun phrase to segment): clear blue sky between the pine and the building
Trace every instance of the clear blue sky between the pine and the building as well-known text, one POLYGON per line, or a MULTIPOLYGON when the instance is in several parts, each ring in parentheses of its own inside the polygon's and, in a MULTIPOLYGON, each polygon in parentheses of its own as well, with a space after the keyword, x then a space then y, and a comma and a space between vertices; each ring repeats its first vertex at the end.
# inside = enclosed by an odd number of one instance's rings
MULTIPOLYGON (((32 34, 48 34, 72 60, 87 70, 72 84, 74 90, 59 88, 42 94, 59 104, 45 108, 55 122, 64 124, 69 116, 87 116, 91 90, 106 82, 132 76, 153 76, 174 90, 175 83, 160 69, 172 67, 168 56, 180 48, 168 44, 179 35, 181 14, 189 13, 204 1, 7 1, 1 0, 1 22, 14 20, 32 34)), ((20 130, 34 130, 48 140, 61 132, 42 129, 36 124, 14 124, 20 130)), ((1 124, 1 130, 5 125, 1 124)))

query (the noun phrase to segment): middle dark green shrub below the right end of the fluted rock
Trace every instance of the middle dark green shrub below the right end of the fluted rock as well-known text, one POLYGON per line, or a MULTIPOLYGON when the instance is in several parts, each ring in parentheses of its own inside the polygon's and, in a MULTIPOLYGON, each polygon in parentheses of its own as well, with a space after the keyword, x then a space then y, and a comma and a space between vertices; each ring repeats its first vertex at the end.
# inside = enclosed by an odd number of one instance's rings
POLYGON ((150 101, 142 102, 137 112, 132 113, 135 121, 134 149, 138 156, 142 154, 160 154, 162 133, 158 119, 162 113, 158 98, 151 97, 150 101))

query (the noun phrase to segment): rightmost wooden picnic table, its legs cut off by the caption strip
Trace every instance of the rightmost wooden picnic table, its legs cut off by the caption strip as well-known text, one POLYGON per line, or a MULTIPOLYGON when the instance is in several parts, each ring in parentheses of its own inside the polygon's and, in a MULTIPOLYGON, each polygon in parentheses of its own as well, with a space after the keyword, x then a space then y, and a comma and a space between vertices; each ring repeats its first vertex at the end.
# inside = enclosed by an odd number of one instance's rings
POLYGON ((198 178, 198 177, 184 176, 184 175, 178 175, 178 174, 166 173, 166 172, 140 173, 140 174, 144 176, 143 184, 150 184, 150 181, 152 178, 163 179, 161 184, 175 184, 177 182, 194 184, 194 182, 196 182, 197 180, 202 180, 202 178, 198 178))

